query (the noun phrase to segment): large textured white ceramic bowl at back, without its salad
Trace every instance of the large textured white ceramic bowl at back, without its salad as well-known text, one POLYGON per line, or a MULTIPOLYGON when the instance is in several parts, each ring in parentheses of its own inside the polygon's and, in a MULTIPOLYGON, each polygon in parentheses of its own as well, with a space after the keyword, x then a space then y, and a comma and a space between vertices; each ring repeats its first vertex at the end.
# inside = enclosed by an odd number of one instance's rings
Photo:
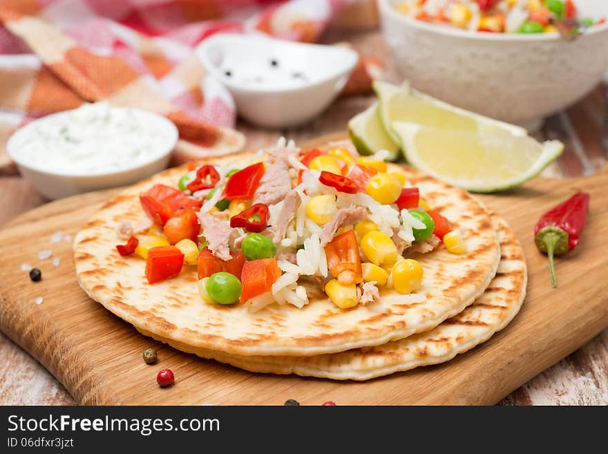
MULTIPOLYGON (((574 41, 558 33, 469 32, 400 15, 379 0, 384 39, 401 75, 440 100, 540 126, 584 97, 608 68, 608 23, 574 41)), ((576 0, 581 17, 608 17, 608 1, 576 0)))

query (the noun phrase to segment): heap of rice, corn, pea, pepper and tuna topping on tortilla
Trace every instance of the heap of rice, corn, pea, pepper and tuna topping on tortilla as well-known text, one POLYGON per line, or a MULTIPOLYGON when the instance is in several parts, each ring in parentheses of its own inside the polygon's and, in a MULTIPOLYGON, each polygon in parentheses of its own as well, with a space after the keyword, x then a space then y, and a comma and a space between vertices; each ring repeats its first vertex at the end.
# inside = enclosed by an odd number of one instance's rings
POLYGON ((153 225, 117 252, 144 258, 150 284, 196 266, 202 301, 251 310, 302 308, 306 283, 344 309, 376 301, 383 287, 415 292, 424 270, 406 249, 430 252, 443 240, 462 254, 466 243, 384 158, 282 139, 242 167, 203 165, 140 195, 153 225))

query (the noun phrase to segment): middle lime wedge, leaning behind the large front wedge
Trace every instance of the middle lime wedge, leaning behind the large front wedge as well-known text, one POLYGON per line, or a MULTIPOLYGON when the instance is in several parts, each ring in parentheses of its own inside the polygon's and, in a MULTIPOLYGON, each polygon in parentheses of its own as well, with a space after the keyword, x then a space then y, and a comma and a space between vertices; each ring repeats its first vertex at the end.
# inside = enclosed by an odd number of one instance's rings
POLYGON ((420 93, 408 84, 395 86, 375 81, 374 91, 380 103, 380 117, 392 140, 403 146, 393 122, 409 122, 434 129, 468 133, 493 133, 524 136, 526 130, 513 124, 465 111, 420 93))

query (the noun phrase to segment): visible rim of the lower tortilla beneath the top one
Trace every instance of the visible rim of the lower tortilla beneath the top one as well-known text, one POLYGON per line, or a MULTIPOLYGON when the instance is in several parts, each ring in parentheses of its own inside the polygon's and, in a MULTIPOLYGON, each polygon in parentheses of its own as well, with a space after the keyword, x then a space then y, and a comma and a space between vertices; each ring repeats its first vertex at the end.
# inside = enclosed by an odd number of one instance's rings
MULTIPOLYGON (((178 350, 249 370, 274 374, 296 374, 337 380, 368 380, 419 366, 444 363, 471 350, 502 330, 519 312, 526 296, 524 251, 506 221, 493 216, 504 257, 495 278, 475 303, 432 330, 399 341, 316 357, 239 357, 211 350, 178 350)), ((167 341, 166 339, 157 339, 167 341)))

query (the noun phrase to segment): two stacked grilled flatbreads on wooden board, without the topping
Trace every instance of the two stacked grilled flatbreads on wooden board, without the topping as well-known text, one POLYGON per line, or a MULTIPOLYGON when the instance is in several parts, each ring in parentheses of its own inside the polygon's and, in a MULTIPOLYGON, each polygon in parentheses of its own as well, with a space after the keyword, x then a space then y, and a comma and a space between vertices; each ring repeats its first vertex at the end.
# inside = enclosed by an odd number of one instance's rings
POLYGON ((252 372, 366 380, 448 361, 489 339, 517 314, 526 292, 526 263, 502 218, 461 189, 401 171, 430 206, 464 232, 468 247, 462 255, 444 247, 409 254, 424 269, 415 295, 382 290, 379 301, 343 310, 311 287, 310 303, 302 309, 273 304, 251 312, 239 303, 203 303, 195 267, 149 285, 144 261, 116 253, 116 227, 124 220, 140 223, 145 216, 140 193, 156 183, 177 186, 184 167, 126 189, 79 232, 74 251, 79 283, 142 334, 252 372))

